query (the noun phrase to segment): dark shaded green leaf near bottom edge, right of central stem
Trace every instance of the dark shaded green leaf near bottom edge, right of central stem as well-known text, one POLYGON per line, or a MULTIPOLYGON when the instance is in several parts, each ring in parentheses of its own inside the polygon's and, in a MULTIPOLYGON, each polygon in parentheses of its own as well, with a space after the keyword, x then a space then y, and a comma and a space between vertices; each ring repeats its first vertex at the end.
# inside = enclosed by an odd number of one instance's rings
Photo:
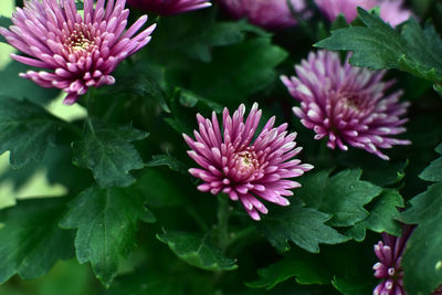
POLYGON ((245 283, 248 287, 271 289, 277 284, 295 277, 302 285, 329 284, 332 274, 314 256, 286 257, 269 267, 257 270, 259 281, 245 283))

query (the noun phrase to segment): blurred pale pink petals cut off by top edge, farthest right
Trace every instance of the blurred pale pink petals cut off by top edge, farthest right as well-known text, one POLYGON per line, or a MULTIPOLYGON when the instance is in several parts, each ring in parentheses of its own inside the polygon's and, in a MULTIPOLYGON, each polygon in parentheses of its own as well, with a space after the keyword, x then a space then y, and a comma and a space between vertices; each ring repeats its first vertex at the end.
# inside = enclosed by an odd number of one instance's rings
POLYGON ((343 13, 347 22, 351 22, 357 13, 357 7, 370 10, 380 8, 380 17, 383 21, 396 27, 407 21, 412 12, 403 8, 403 0, 315 0, 320 11, 330 20, 335 20, 343 13))

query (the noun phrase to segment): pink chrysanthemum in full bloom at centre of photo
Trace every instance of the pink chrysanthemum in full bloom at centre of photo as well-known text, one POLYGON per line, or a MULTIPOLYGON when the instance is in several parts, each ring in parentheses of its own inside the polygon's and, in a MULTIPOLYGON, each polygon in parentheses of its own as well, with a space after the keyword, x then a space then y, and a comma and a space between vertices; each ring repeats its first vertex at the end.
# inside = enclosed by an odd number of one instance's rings
POLYGON ((240 200, 252 219, 260 220, 260 213, 266 214, 267 209, 259 199, 288 206, 284 197, 301 187, 288 178, 298 177, 313 166, 293 159, 302 148, 295 148, 296 133, 287 134, 287 124, 273 127, 272 117, 253 140, 262 112, 255 103, 245 123, 244 113, 244 105, 232 117, 224 108, 222 129, 214 112, 212 120, 198 114, 197 140, 186 134, 183 137, 192 149, 189 156, 201 167, 189 170, 203 181, 198 189, 213 194, 224 192, 231 200, 240 200))

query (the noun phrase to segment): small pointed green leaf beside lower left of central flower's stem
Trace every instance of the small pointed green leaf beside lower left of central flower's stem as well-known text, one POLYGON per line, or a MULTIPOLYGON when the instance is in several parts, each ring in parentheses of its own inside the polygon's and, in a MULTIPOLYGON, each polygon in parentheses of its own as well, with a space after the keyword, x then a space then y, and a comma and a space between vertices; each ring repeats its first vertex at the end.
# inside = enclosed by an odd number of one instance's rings
POLYGON ((157 234, 157 239, 167 244, 178 257, 190 265, 207 271, 232 271, 238 268, 236 260, 224 256, 212 241, 211 234, 196 234, 170 231, 157 234))

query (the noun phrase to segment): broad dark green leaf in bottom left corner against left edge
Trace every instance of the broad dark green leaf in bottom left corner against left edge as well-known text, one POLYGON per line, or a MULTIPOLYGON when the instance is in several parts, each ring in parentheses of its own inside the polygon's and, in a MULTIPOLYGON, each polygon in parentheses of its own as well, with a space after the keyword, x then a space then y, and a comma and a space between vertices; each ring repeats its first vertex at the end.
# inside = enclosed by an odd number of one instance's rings
POLYGON ((74 255, 73 232, 59 228, 64 199, 21 201, 0 211, 0 283, 34 278, 74 255))

